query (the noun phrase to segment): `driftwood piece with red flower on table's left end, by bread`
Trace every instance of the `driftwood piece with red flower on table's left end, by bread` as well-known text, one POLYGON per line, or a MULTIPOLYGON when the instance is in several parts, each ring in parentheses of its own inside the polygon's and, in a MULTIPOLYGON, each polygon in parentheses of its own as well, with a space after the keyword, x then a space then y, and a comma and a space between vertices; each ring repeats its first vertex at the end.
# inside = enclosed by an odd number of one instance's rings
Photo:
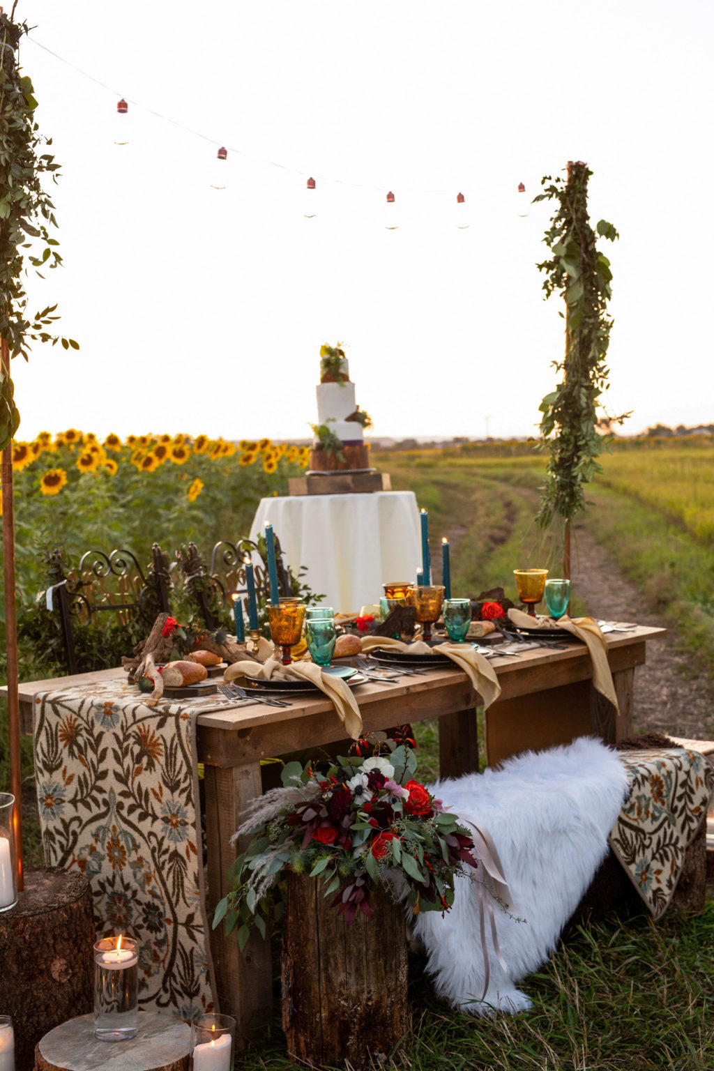
POLYGON ((181 628, 169 614, 159 614, 147 638, 139 640, 134 648, 132 658, 122 655, 121 662, 131 684, 140 683, 145 678, 152 682, 153 691, 147 695, 146 704, 153 707, 164 694, 158 666, 170 662, 177 651, 185 661, 198 662, 197 659, 192 659, 191 652, 199 650, 210 651, 229 665, 240 661, 257 661, 246 652, 244 646, 234 644, 224 631, 211 633, 198 629, 189 632, 181 628))

